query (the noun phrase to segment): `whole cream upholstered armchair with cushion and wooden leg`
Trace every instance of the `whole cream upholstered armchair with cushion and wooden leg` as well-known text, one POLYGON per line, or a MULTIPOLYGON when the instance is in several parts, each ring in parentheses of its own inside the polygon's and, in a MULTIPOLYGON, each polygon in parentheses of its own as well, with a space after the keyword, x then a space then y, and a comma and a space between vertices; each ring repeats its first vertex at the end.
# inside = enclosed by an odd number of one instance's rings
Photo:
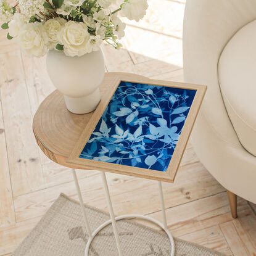
POLYGON ((228 191, 256 203, 256 1, 187 0, 184 79, 207 85, 191 141, 228 191))

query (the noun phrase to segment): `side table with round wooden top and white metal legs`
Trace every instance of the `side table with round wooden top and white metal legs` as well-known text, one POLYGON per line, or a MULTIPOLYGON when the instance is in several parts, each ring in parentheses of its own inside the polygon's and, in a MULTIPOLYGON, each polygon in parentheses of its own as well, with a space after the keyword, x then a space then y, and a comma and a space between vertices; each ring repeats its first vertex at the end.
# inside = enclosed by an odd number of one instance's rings
MULTIPOLYGON (((107 91, 109 91, 109 88, 111 88, 111 85, 112 85, 112 81, 114 80, 116 75, 117 73, 105 74, 104 81, 100 86, 101 94, 107 93, 107 91)), ((126 77, 132 76, 132 78, 136 78, 136 75, 134 74, 125 73, 125 76, 126 77)), ((138 78, 141 78, 141 76, 138 75, 138 78)), ((70 167, 73 169, 81 169, 81 167, 72 163, 67 163, 66 161, 70 156, 70 152, 72 152, 73 147, 75 147, 76 142, 80 138, 80 134, 85 129, 85 126, 90 120, 90 118, 92 117, 92 115, 93 115, 93 112, 85 115, 72 114, 65 107, 64 97, 62 96, 62 94, 60 94, 59 91, 57 90, 54 91, 49 96, 47 96, 46 99, 44 99, 44 101, 39 106, 35 114, 35 117, 33 119, 33 132, 35 134, 35 138, 36 138, 36 142, 38 143, 38 146, 44 152, 44 154, 52 161, 59 163, 60 165, 64 165, 65 167, 70 167)), ((163 191, 162 191, 161 181, 158 181, 158 184, 159 184, 160 202, 162 207, 163 223, 160 223, 159 221, 154 220, 151 217, 146 217, 143 215, 122 215, 119 217, 115 217, 104 171, 101 171, 101 176, 102 176, 102 183, 105 190, 107 205, 109 208, 110 220, 103 223, 95 231, 91 231, 91 228, 89 227, 89 221, 86 215, 86 210, 83 204, 83 199, 81 196, 78 179, 76 177, 75 170, 73 170, 73 179, 75 181, 78 198, 80 200, 83 220, 85 222, 86 230, 89 236, 88 243, 86 244, 85 256, 89 255, 89 246, 93 241, 93 238, 96 236, 96 234, 99 233, 101 229, 103 229, 105 226, 109 225, 110 223, 112 223, 112 226, 114 229, 114 235, 115 235, 115 241, 117 243, 118 254, 122 256, 123 255, 122 245, 120 244, 120 241, 119 241, 117 225, 115 221, 122 220, 122 219, 131 219, 131 218, 141 218, 144 220, 152 221, 156 225, 159 225, 167 233, 170 239, 170 243, 171 243, 170 256, 173 256, 175 254, 175 244, 173 241, 173 237, 170 234, 170 231, 168 231, 167 229, 167 219, 165 215, 165 205, 163 200, 163 191)))

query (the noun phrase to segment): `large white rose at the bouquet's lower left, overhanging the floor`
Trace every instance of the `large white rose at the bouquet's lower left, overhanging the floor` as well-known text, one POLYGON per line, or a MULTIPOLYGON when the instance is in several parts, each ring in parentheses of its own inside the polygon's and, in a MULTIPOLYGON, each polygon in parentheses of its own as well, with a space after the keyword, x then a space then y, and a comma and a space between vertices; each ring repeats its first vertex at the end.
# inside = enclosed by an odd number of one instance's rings
POLYGON ((19 43, 28 56, 41 57, 47 52, 48 36, 42 23, 34 22, 22 26, 19 43))

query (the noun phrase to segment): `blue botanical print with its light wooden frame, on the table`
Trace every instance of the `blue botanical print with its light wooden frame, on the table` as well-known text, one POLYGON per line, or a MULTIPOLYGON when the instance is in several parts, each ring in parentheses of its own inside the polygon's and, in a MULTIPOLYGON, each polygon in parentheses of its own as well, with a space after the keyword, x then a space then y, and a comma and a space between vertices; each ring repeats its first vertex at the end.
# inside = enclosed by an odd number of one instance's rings
POLYGON ((68 163, 173 182, 206 86, 168 81, 113 81, 68 163))

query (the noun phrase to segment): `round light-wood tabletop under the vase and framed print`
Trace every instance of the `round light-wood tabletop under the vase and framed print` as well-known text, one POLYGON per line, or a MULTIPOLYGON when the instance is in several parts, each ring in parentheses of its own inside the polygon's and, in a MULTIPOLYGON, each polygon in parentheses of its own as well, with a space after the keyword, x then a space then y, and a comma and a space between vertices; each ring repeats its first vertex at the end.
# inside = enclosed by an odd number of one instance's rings
MULTIPOLYGON (((115 76, 120 73, 105 73, 100 85, 101 94, 107 93, 115 76)), ((133 76, 134 74, 122 73, 133 76)), ((138 75, 138 78, 141 77, 138 75)), ((75 147, 80 134, 92 117, 93 112, 77 115, 69 112, 65 106, 64 96, 54 91, 44 99, 33 119, 33 132, 36 142, 46 156, 52 161, 71 168, 80 168, 66 163, 73 147, 75 147)))

